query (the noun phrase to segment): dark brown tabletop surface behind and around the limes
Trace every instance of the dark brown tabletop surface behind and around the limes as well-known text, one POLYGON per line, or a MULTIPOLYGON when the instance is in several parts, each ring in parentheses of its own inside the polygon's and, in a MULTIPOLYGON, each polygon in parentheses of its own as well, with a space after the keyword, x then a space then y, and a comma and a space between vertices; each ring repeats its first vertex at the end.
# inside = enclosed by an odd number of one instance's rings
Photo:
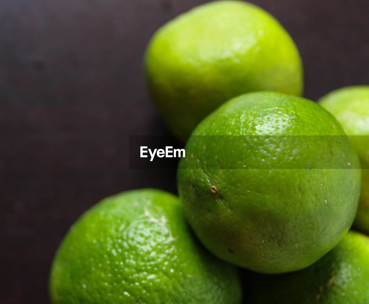
MULTIPOLYGON (((129 170, 129 135, 166 135, 142 55, 163 23, 199 0, 0 1, 0 303, 48 303, 69 226, 132 188, 176 192, 175 165, 129 170)), ((251 1, 303 58, 305 96, 369 83, 366 0, 251 1)))

